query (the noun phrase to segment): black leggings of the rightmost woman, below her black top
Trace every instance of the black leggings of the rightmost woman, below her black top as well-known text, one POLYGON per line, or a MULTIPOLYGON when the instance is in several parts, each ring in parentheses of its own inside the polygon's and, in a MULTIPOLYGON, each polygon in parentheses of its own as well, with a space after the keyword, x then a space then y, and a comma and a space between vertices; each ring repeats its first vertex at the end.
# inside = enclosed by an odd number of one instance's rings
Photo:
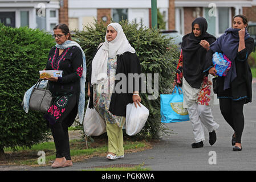
POLYGON ((241 143, 243 127, 245 126, 245 118, 243 117, 244 104, 245 99, 233 101, 231 99, 220 98, 221 114, 234 130, 237 143, 241 143))

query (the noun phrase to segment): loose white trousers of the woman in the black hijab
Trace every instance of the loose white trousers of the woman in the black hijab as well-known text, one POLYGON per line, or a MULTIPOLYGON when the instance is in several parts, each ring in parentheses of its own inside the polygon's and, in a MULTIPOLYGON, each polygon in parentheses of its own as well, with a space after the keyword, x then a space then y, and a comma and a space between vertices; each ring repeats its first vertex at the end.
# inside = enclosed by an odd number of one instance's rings
POLYGON ((212 109, 210 106, 194 104, 187 108, 189 119, 192 123, 194 139, 196 143, 205 140, 204 126, 209 132, 216 131, 220 125, 213 121, 212 109))

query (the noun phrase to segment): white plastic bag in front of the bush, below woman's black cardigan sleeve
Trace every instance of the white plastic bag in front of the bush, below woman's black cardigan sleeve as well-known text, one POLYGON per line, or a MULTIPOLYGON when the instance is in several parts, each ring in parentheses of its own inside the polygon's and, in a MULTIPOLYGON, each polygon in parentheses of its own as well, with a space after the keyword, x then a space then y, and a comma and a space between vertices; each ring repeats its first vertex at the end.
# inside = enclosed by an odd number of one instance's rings
POLYGON ((129 136, 139 133, 148 119, 149 111, 147 107, 140 105, 141 107, 137 105, 137 108, 134 103, 126 106, 125 131, 129 136))

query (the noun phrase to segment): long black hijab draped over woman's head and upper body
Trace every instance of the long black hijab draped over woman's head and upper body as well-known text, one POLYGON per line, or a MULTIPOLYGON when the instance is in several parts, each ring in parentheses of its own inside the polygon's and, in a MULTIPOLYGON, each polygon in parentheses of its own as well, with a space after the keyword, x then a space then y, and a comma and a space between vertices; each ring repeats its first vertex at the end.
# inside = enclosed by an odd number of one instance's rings
POLYGON ((205 18, 196 18, 192 23, 192 32, 182 38, 182 55, 183 55, 183 76, 193 88, 200 88, 204 78, 204 71, 208 69, 206 64, 206 49, 199 43, 206 40, 209 44, 215 42, 216 38, 208 34, 208 24, 205 18), (201 35, 196 37, 193 33, 194 24, 199 24, 201 35))

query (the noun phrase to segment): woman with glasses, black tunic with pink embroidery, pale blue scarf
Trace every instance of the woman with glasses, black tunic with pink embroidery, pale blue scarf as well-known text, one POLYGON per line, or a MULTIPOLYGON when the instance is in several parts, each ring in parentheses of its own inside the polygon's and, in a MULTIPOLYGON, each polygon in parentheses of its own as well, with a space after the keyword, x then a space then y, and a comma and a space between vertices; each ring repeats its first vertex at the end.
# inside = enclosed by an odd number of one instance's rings
POLYGON ((54 27, 54 38, 56 46, 49 52, 46 70, 62 70, 63 73, 62 77, 44 78, 50 81, 49 90, 54 96, 44 118, 50 123, 56 147, 52 167, 67 167, 72 166, 68 127, 78 113, 79 119, 83 119, 86 61, 79 44, 71 41, 66 24, 54 27))

